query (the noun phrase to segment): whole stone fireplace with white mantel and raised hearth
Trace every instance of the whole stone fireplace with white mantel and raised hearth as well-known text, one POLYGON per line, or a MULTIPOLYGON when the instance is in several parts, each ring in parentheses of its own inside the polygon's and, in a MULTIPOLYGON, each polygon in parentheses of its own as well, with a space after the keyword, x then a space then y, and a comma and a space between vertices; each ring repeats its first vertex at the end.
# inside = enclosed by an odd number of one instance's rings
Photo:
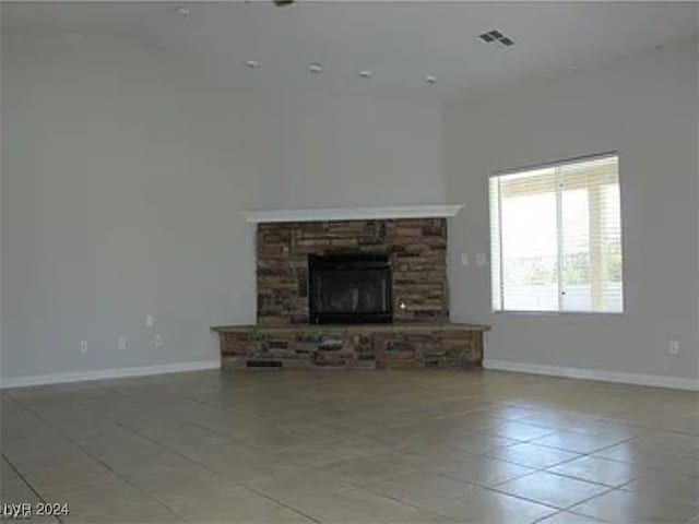
POLYGON ((257 323, 213 327, 222 365, 481 366, 488 327, 449 322, 446 217, 459 206, 415 207, 259 212, 257 323))

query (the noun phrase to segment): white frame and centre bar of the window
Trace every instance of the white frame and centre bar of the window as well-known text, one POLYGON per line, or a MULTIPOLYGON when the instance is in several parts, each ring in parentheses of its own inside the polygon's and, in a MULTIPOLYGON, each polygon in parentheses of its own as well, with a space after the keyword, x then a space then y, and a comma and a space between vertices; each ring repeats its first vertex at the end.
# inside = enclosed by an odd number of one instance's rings
MULTIPOLYGON (((619 157, 619 153, 618 151, 609 151, 609 152, 605 152, 605 153, 597 153, 597 154, 593 154, 593 155, 583 155, 583 156, 576 156, 576 157, 571 157, 571 158, 565 158, 561 160, 554 160, 554 162, 546 162, 546 163, 542 163, 542 164, 531 164, 528 166, 522 166, 522 167, 517 167, 517 168, 511 168, 511 169, 503 169, 503 170, 496 170, 493 171, 487 179, 487 183, 488 183, 488 231, 489 231, 489 242, 490 242, 490 262, 493 264, 493 261, 496 260, 496 257, 498 258, 498 260, 500 261, 499 264, 499 270, 500 270, 500 298, 499 298, 499 303, 500 303, 500 309, 497 309, 495 307, 495 297, 493 295, 493 273, 494 273, 494 269, 490 269, 489 272, 489 289, 490 289, 490 312, 494 314, 522 314, 522 315, 542 315, 542 317, 558 317, 558 315, 577 315, 577 317, 585 317, 585 315, 590 315, 590 317, 597 317, 597 315, 604 315, 604 317, 619 317, 619 315, 624 315, 626 313, 626 260, 625 260, 625 255, 624 253, 626 253, 626 249, 624 247, 624 210, 623 210, 623 205, 621 203, 624 202, 623 199, 623 184, 621 184, 621 160, 619 157), (620 236, 621 236, 621 310, 620 311, 595 311, 595 310, 565 310, 561 309, 561 300, 562 300, 562 277, 561 277, 561 272, 562 272, 562 264, 560 263, 560 259, 562 258, 562 252, 564 250, 561 249, 562 242, 561 242, 561 237, 562 237, 562 227, 560 226, 561 224, 561 214, 562 214, 562 206, 560 205, 560 201, 561 201, 561 195, 562 193, 559 191, 559 182, 558 180, 556 181, 556 234, 557 234, 557 253, 558 253, 558 259, 559 262, 557 264, 557 285, 558 285, 558 294, 557 294, 557 305, 558 308, 556 310, 518 310, 518 309, 506 309, 505 305, 502 303, 503 301, 503 296, 505 296, 505 274, 503 274, 503 263, 502 263, 502 257, 501 253, 498 253, 497 255, 495 254, 495 246, 493 243, 493 241, 490 240, 493 238, 493 202, 491 202, 491 195, 490 195, 490 181, 494 178, 499 178, 502 176, 507 176, 507 175, 514 175, 521 171, 528 171, 528 170, 535 170, 535 169, 547 169, 547 168, 554 168, 556 169, 556 177, 558 177, 558 168, 562 167, 562 166, 567 166, 570 164, 578 164, 578 163, 582 163, 582 162, 589 162, 589 160, 599 160, 599 159, 604 159, 604 158, 611 158, 611 157, 616 157, 617 160, 617 179, 618 179, 618 184, 619 184, 619 214, 620 214, 620 236)), ((499 200, 499 198, 498 198, 499 200)), ((498 231, 498 235, 500 236, 500 240, 498 242, 499 247, 500 247, 500 252, 502 251, 502 230, 501 230, 501 216, 502 216, 502 206, 499 205, 498 203, 498 227, 500 228, 500 230, 498 231)))

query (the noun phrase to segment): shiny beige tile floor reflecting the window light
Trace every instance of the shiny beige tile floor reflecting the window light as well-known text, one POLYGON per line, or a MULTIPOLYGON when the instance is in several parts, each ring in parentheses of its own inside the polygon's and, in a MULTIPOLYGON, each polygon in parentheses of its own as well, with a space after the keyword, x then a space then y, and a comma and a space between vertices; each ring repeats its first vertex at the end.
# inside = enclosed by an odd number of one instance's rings
POLYGON ((699 522, 699 394, 496 371, 203 371, 4 390, 34 522, 699 522))

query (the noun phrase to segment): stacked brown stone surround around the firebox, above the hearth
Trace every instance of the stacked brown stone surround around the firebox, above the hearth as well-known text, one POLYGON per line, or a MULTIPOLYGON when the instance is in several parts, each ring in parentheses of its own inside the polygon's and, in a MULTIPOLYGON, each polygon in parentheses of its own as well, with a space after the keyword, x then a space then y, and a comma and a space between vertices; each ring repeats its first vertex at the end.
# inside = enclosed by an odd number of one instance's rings
POLYGON ((307 323, 308 255, 348 252, 389 255, 396 322, 449 318, 447 221, 405 218, 259 224, 258 323, 307 323))

